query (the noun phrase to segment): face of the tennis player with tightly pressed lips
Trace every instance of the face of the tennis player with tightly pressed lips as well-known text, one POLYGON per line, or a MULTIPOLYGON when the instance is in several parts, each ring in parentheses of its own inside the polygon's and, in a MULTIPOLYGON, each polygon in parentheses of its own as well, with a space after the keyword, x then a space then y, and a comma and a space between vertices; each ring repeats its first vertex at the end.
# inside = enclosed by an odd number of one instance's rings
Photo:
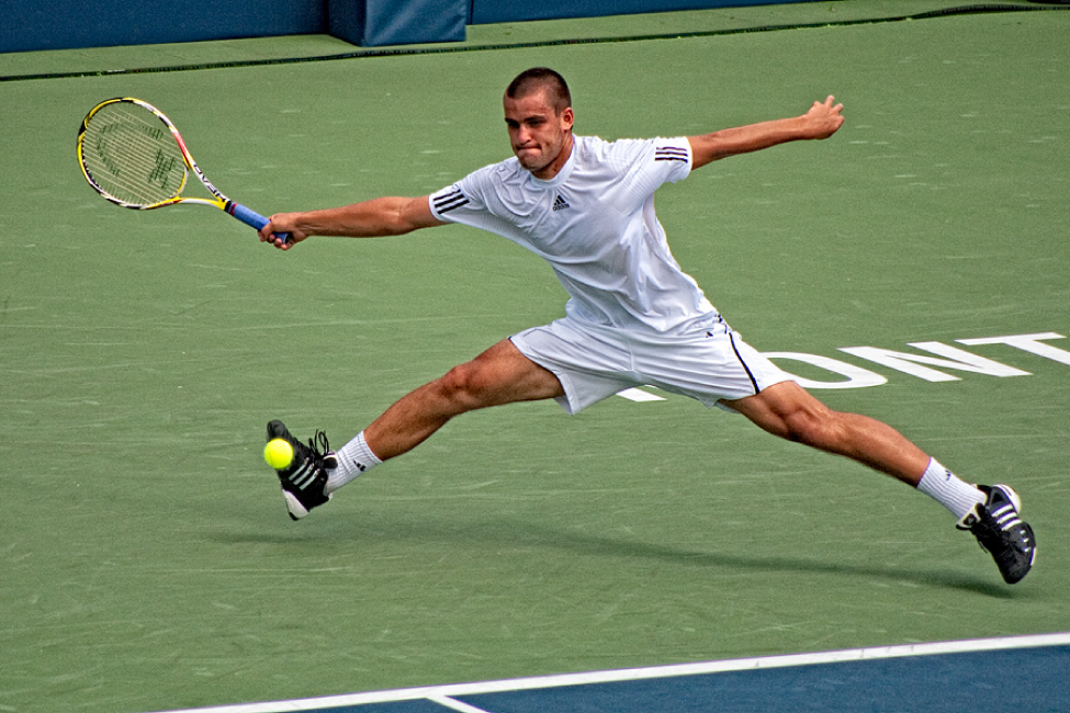
POLYGON ((572 107, 557 114, 545 90, 519 99, 506 97, 504 102, 509 140, 520 166, 536 178, 552 179, 572 150, 572 107))

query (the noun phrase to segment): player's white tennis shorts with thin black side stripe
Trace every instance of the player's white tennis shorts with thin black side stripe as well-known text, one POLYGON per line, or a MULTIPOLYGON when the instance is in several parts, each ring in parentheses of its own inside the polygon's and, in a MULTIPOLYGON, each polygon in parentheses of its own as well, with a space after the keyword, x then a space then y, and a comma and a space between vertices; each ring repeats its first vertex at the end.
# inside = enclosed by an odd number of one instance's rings
POLYGON ((793 378, 723 321, 666 337, 564 318, 510 339, 521 354, 557 376, 565 392, 557 403, 568 414, 633 386, 649 384, 711 408, 793 378))

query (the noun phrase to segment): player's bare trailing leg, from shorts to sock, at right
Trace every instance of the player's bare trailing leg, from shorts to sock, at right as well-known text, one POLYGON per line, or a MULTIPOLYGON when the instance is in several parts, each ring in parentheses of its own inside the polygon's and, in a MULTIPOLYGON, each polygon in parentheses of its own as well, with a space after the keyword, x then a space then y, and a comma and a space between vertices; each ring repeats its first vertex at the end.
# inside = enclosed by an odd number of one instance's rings
POLYGON ((867 416, 834 411, 795 382, 725 400, 769 433, 843 455, 916 486, 930 457, 899 431, 867 416))

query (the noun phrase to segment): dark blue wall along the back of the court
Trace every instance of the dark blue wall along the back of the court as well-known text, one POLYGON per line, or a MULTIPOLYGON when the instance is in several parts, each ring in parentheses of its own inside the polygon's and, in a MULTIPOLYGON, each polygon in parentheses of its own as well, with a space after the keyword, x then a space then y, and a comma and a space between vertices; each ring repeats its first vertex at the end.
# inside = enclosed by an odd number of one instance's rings
POLYGON ((330 33, 363 47, 464 39, 466 24, 799 0, 0 0, 0 52, 330 33))

